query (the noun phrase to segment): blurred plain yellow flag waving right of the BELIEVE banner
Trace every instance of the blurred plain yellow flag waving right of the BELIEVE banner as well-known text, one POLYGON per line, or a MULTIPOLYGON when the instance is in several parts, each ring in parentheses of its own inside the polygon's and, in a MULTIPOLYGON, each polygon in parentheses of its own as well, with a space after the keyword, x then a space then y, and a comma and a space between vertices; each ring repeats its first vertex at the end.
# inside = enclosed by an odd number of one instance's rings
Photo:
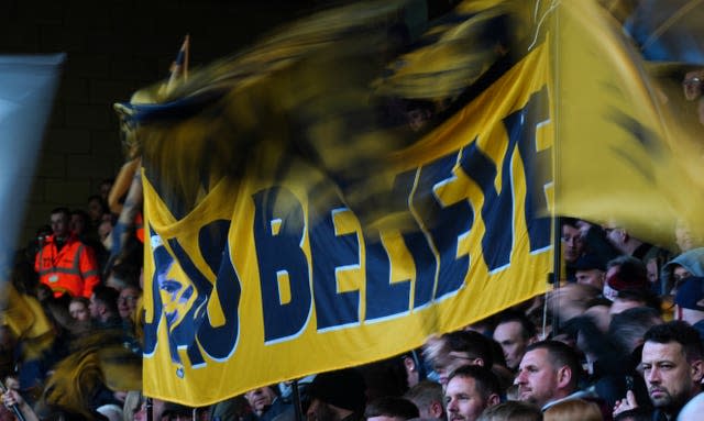
MULTIPOLYGON (((670 10, 682 2, 658 3, 670 10)), ((704 10, 703 2, 689 3, 694 15, 704 10)), ((642 1, 637 10, 649 4, 642 1)), ((650 27, 650 41, 641 48, 664 41, 666 33, 679 33, 685 18, 656 15, 662 21, 650 27)), ((637 14, 626 21, 641 26, 637 14)), ((620 22, 596 1, 562 1, 549 22, 556 33, 558 213, 623 226, 664 246, 672 244, 678 221, 704 234, 698 211, 704 206, 704 126, 684 118, 694 108, 680 86, 685 71, 676 66, 663 71, 662 64, 647 62, 620 22)), ((663 58, 686 58, 670 43, 702 38, 700 29, 683 29, 690 36, 668 37, 663 52, 673 56, 663 58)))

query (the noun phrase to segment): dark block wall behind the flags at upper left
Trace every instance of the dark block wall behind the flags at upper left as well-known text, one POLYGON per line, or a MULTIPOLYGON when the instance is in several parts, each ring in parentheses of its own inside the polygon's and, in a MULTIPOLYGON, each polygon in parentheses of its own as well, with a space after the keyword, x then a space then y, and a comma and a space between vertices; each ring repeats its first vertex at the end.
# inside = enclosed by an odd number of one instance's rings
POLYGON ((327 3, 217 0, 2 0, 0 54, 68 54, 20 239, 58 206, 85 208, 124 158, 112 103, 165 78, 190 33, 191 66, 327 3))

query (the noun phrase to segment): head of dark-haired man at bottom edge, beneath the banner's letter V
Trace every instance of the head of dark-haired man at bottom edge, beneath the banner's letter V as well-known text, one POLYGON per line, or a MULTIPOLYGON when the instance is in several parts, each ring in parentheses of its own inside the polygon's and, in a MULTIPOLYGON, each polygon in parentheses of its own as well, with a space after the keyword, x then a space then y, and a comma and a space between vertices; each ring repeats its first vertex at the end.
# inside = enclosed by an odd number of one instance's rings
POLYGON ((448 419, 475 421, 486 408, 501 402, 498 378, 486 367, 462 366, 450 375, 444 396, 448 419))

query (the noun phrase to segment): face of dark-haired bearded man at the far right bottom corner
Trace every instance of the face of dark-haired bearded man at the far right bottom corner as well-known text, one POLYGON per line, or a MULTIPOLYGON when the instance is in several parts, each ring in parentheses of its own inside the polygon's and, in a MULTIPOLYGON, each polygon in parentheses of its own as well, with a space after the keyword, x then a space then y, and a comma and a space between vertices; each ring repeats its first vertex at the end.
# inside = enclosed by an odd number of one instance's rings
POLYGON ((641 366, 650 401, 656 408, 681 408, 697 392, 697 384, 702 380, 702 361, 688 362, 678 342, 646 342, 641 366))

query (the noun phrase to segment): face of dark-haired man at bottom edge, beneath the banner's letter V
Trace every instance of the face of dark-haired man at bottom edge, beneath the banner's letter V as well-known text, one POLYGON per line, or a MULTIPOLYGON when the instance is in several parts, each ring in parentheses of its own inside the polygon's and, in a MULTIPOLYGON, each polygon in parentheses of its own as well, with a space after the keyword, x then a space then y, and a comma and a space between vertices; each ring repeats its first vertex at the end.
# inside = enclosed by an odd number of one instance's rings
MULTIPOLYGON (((493 397, 498 402, 498 396, 494 395, 493 397)), ((448 421, 476 420, 484 409, 490 406, 490 398, 482 396, 476 390, 476 384, 473 378, 452 377, 444 391, 448 421)))

